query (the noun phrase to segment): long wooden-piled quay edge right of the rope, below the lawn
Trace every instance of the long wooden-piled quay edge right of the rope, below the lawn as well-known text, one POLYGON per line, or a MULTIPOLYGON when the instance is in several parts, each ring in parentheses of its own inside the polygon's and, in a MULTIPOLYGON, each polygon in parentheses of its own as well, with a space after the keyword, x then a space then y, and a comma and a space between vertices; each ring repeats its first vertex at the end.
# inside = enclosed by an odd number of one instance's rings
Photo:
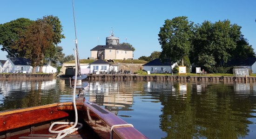
POLYGON ((154 75, 123 75, 123 74, 105 74, 88 75, 88 81, 196 81, 196 82, 256 82, 256 77, 241 76, 154 76, 154 75))

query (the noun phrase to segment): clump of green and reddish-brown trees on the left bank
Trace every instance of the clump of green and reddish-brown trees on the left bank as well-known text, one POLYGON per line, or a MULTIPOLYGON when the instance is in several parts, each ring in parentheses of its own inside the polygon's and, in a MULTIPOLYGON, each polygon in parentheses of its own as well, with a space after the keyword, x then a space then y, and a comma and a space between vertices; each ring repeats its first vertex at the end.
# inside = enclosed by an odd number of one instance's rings
POLYGON ((40 66, 42 72, 44 62, 56 64, 58 57, 64 57, 63 49, 57 46, 65 38, 61 32, 61 22, 53 15, 36 21, 16 19, 0 25, 1 50, 7 51, 8 57, 29 58, 31 66, 40 66))

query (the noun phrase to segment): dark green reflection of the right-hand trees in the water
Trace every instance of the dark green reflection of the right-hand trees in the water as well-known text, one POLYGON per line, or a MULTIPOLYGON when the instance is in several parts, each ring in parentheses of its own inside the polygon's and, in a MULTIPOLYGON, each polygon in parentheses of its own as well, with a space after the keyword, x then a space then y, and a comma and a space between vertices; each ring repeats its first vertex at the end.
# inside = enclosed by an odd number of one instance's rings
MULTIPOLYGON (((236 139, 247 135, 248 124, 252 124, 247 119, 252 117, 254 109, 249 98, 235 98, 233 86, 225 84, 211 84, 202 95, 197 95, 190 92, 196 90, 193 85, 188 83, 185 99, 160 96, 163 105, 160 128, 168 133, 166 139, 236 139)), ((174 87, 172 93, 177 93, 178 85, 174 87)))

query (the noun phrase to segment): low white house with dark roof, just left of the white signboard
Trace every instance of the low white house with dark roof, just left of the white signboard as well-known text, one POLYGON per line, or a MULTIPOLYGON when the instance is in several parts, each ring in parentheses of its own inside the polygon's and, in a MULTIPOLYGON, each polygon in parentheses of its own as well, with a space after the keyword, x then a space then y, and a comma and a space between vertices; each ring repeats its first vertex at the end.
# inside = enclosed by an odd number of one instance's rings
POLYGON ((159 58, 156 58, 148 63, 145 63, 143 69, 150 71, 150 73, 172 73, 172 69, 177 63, 170 63, 169 59, 166 59, 164 63, 159 58))

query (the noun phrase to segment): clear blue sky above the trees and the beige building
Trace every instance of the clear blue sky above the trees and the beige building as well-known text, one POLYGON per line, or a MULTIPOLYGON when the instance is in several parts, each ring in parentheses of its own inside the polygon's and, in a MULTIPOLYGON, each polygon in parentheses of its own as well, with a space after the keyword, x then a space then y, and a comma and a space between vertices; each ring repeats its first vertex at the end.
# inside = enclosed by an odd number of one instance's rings
MULTIPOLYGON (((229 19, 242 26, 242 34, 256 51, 255 6, 256 0, 74 0, 79 56, 90 57, 92 48, 105 45, 112 27, 120 43, 135 47, 134 59, 150 56, 162 51, 158 33, 164 20, 177 16, 187 16, 195 24, 229 19)), ((1 0, 0 24, 45 15, 59 17, 66 37, 59 45, 66 56, 74 54, 72 0, 1 0)), ((0 51, 0 59, 7 59, 6 54, 0 51)))

